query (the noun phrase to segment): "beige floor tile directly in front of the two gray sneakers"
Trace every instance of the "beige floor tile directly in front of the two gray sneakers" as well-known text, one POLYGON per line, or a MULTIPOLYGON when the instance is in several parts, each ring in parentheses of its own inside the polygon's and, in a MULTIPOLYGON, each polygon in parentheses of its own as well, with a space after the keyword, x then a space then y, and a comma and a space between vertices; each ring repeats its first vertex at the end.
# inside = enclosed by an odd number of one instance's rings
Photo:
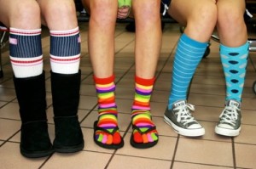
POLYGON ((229 142, 180 138, 175 161, 233 166, 232 145, 229 142))

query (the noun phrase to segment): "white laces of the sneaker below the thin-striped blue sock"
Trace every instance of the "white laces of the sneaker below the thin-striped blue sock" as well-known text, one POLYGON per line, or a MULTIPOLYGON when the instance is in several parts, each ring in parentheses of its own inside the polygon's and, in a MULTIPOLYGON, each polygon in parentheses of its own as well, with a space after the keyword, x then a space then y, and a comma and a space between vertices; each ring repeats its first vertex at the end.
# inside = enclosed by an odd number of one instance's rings
POLYGON ((177 112, 175 113, 177 115, 177 122, 182 122, 184 125, 186 125, 189 122, 195 121, 194 117, 191 115, 189 111, 189 110, 192 110, 192 111, 195 110, 194 105, 184 104, 184 105, 177 106, 173 110, 177 110, 177 112))

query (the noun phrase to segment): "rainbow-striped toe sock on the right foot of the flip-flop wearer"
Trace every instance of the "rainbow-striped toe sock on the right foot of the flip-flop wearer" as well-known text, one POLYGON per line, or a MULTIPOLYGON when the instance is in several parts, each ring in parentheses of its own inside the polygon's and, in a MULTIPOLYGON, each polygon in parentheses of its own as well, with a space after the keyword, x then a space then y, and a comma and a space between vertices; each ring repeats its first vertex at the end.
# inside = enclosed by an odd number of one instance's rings
POLYGON ((136 143, 140 144, 152 143, 158 140, 156 129, 150 131, 150 128, 154 127, 150 114, 150 98, 154 87, 154 78, 143 79, 136 76, 135 82, 136 92, 132 104, 131 119, 132 125, 138 129, 134 129, 133 139, 136 143), (141 134, 138 130, 144 133, 141 134))

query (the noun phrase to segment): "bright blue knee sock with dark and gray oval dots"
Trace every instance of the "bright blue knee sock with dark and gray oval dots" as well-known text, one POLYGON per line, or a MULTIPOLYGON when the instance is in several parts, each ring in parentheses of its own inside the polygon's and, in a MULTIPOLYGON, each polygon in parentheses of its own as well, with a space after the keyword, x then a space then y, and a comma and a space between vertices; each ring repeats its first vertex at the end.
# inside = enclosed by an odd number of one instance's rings
POLYGON ((237 48, 220 45, 220 56, 226 81, 226 100, 235 99, 241 102, 247 69, 248 48, 248 42, 237 48))

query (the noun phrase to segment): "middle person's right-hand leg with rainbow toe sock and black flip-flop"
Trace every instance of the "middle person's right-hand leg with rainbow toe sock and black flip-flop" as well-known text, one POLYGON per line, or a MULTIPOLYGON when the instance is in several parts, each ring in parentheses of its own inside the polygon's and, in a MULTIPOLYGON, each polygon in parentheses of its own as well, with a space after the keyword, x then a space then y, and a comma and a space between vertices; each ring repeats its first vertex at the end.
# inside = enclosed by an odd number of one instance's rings
POLYGON ((160 55, 160 1, 134 0, 132 9, 136 22, 136 75, 135 97, 132 104, 133 132, 131 145, 145 149, 158 142, 158 132, 150 113, 150 98, 154 87, 155 69, 160 55))

